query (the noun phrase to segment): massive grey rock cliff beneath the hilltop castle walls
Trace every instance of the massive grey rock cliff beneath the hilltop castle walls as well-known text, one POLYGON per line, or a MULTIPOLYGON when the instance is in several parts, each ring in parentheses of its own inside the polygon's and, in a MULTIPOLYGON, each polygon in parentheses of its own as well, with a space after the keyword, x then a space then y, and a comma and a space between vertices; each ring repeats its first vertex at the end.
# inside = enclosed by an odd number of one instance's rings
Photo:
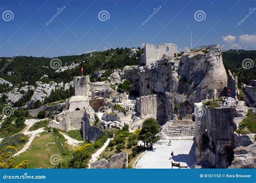
POLYGON ((180 119, 193 113, 195 102, 223 96, 227 87, 218 45, 185 52, 180 60, 163 57, 137 70, 140 96, 159 94, 165 96, 164 106, 179 104, 180 119))

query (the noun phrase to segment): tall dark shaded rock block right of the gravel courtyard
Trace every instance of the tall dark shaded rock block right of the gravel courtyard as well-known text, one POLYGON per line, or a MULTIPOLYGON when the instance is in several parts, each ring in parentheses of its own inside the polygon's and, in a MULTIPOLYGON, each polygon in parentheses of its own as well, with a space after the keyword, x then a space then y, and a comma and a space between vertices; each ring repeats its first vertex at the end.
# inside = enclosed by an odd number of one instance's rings
POLYGON ((195 104, 196 158, 202 167, 226 168, 233 160, 236 147, 233 122, 236 116, 233 107, 208 108, 202 103, 195 104), (199 112, 199 109, 201 110, 199 112), (206 152, 207 155, 203 157, 206 152))

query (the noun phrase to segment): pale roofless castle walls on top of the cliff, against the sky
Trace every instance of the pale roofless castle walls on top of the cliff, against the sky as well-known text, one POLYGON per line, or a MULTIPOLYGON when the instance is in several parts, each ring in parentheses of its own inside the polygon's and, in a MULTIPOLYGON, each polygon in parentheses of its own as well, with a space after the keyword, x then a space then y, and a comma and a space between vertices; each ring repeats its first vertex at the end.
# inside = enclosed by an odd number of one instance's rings
POLYGON ((160 45, 145 44, 142 55, 142 63, 146 64, 150 60, 160 60, 163 57, 177 57, 178 49, 176 44, 164 43, 160 45))

